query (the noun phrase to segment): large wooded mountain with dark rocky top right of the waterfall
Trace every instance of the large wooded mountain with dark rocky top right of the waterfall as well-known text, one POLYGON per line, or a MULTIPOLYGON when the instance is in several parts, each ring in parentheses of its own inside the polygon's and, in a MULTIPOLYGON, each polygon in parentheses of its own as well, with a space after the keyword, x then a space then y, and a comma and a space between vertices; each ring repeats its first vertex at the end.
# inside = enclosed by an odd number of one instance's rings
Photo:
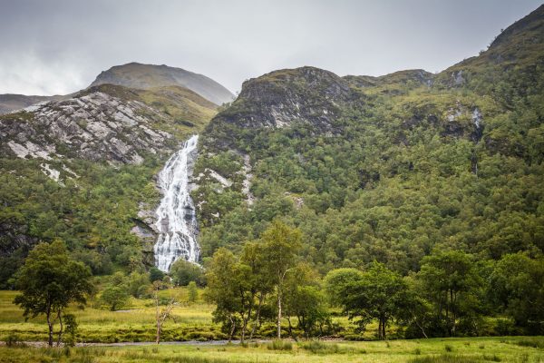
POLYGON ((202 254, 238 250, 274 218, 323 273, 378 260, 406 274, 435 249, 541 253, 543 37, 540 6, 440 74, 248 80, 200 138, 202 254))

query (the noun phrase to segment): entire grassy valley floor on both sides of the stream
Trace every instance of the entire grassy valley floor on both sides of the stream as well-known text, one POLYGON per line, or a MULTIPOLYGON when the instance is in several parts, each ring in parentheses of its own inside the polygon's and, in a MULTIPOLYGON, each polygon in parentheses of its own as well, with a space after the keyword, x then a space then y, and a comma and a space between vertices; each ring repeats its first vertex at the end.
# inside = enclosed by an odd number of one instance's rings
MULTIPOLYGON (((168 292, 163 291, 164 294, 168 292)), ((180 301, 187 290, 176 289, 180 301)), ((24 321, 13 303, 17 292, 0 291, 0 339, 16 334, 24 341, 44 341, 44 317, 24 321)), ((72 308, 80 324, 80 342, 131 342, 154 340, 155 308, 151 299, 133 299, 121 311, 98 309, 91 301, 86 309, 72 308)), ((181 302, 175 321, 166 323, 163 341, 224 339, 211 321, 210 306, 199 300, 181 302)), ((345 318, 336 321, 345 327, 345 318)), ((364 338, 374 337, 369 327, 364 338)), ((543 337, 433 338, 390 341, 264 342, 240 345, 149 344, 122 347, 33 348, 0 346, 0 362, 543 362, 543 337)))

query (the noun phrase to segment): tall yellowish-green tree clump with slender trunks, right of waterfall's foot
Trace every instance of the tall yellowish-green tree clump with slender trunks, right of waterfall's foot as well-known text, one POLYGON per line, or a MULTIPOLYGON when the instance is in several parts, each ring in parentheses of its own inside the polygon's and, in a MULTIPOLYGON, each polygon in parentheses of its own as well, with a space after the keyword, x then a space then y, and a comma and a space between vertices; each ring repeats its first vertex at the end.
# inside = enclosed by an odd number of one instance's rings
MULTIPOLYGON (((250 336, 253 335, 263 303, 272 293, 276 300, 277 338, 281 338, 287 274, 296 267, 300 238, 300 231, 274 221, 261 240, 244 246, 240 258, 226 249, 214 254, 206 274, 206 296, 217 305, 214 319, 229 329, 229 338, 239 326, 243 341, 250 321, 253 322, 250 336)), ((294 302, 292 307, 295 308, 294 302)))

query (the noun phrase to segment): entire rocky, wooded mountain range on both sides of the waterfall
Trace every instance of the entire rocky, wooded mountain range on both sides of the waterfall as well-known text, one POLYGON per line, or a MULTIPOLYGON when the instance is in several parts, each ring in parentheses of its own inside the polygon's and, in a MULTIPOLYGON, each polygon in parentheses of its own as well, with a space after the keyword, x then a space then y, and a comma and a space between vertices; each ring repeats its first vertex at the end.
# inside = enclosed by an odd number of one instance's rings
POLYGON ((439 74, 277 70, 217 107, 186 71, 125 64, 0 116, 0 285, 37 240, 66 241, 94 274, 149 268, 157 174, 196 133, 185 165, 204 260, 275 218, 303 232, 302 257, 321 273, 378 260, 408 274, 432 250, 471 252, 482 269, 537 256, 543 19, 541 6, 439 74))

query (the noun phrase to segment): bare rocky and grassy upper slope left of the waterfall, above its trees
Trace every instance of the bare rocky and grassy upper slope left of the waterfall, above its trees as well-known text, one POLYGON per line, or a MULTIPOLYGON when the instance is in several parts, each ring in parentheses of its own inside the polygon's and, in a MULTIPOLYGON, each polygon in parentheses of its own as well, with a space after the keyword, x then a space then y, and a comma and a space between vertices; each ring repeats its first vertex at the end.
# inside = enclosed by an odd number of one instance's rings
POLYGON ((215 108, 179 86, 93 86, 73 98, 0 117, 2 152, 19 158, 140 164, 143 153, 173 152, 188 132, 199 131, 215 108))

